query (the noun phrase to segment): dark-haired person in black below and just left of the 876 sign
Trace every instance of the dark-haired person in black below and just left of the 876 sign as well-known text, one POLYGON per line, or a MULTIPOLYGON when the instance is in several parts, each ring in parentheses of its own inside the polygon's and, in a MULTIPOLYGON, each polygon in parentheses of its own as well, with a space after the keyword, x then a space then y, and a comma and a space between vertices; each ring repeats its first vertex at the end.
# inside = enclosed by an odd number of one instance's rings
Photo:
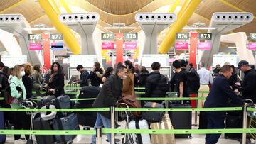
POLYGON ((102 83, 102 74, 104 73, 103 69, 100 68, 100 63, 95 62, 93 65, 93 69, 89 74, 89 79, 91 81, 91 85, 95 87, 99 87, 102 83))

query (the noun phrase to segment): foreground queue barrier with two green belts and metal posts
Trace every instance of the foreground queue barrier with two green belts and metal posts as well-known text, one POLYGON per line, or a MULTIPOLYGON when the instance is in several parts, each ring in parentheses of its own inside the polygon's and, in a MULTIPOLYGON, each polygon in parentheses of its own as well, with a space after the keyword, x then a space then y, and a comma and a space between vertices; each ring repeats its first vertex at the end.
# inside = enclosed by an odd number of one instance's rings
POLYGON ((246 142, 246 133, 256 133, 256 128, 246 128, 247 111, 256 111, 256 108, 244 107, 224 107, 224 108, 85 108, 85 109, 10 109, 0 108, 0 111, 110 111, 112 128, 97 128, 96 131, 47 131, 47 130, 0 130, 0 134, 33 134, 33 135, 95 135, 97 134, 97 142, 100 143, 102 133, 111 133, 111 140, 114 143, 114 133, 149 133, 149 134, 214 134, 214 133, 242 133, 242 144, 246 142), (174 130, 140 130, 140 129, 114 129, 114 113, 115 111, 243 111, 243 127, 232 129, 174 129, 174 130), (100 130, 99 130, 100 129, 100 130))

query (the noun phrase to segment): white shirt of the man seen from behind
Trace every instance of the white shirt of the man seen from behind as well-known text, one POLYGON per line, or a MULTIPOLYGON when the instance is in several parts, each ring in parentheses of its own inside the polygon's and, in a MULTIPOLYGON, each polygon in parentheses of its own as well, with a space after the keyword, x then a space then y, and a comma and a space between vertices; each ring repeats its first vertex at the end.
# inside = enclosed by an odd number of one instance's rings
POLYGON ((210 71, 206 70, 205 67, 201 67, 198 71, 200 77, 200 84, 213 84, 213 76, 210 74, 210 71))

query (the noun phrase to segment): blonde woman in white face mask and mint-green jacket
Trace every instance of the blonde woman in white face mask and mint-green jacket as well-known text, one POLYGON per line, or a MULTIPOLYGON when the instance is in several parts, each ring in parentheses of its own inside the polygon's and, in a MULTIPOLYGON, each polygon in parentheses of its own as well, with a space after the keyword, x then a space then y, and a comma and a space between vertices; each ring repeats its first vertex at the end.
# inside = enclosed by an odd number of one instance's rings
MULTIPOLYGON (((14 66, 14 77, 11 78, 10 89, 13 100, 11 102, 11 108, 22 108, 21 101, 26 99, 26 88, 22 82, 22 78, 25 75, 23 65, 14 66)), ((26 115, 26 112, 14 111, 14 130, 30 128, 31 118, 26 115)), ((29 139, 29 135, 25 135, 26 140, 29 139)), ((14 135, 14 142, 23 142, 21 135, 14 135)))

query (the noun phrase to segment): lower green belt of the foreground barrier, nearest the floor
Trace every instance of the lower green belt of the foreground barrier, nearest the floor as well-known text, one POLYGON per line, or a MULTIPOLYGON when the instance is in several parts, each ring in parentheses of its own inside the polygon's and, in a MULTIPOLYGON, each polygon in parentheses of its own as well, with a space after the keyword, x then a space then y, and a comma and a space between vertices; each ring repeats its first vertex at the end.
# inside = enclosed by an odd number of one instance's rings
MULTIPOLYGON (((218 134, 218 133, 256 133, 256 128, 228 129, 112 129, 103 128, 102 133, 149 133, 149 134, 218 134)), ((0 135, 95 135, 96 130, 0 130, 0 135)))

